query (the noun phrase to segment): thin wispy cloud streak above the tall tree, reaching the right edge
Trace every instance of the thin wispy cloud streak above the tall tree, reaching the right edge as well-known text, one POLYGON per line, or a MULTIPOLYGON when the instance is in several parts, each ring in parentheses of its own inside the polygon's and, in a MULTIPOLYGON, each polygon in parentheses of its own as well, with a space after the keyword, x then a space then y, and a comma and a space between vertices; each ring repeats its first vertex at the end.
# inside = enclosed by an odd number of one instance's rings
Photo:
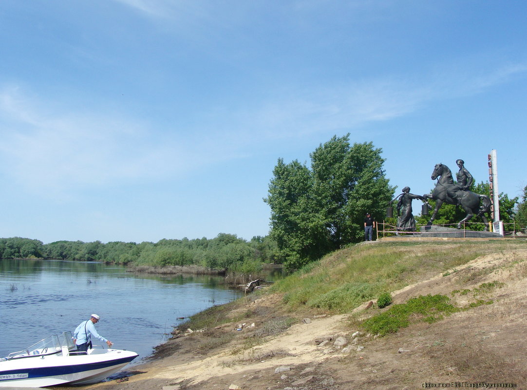
MULTIPOLYGON (((258 134, 287 138, 312 133, 353 131, 359 126, 407 115, 436 101, 463 99, 493 86, 527 75, 527 62, 495 69, 462 69, 403 77, 349 82, 347 85, 310 86, 280 94, 254 111, 237 112, 236 121, 251 124, 258 134)), ((227 110, 226 110, 227 111, 227 110)))

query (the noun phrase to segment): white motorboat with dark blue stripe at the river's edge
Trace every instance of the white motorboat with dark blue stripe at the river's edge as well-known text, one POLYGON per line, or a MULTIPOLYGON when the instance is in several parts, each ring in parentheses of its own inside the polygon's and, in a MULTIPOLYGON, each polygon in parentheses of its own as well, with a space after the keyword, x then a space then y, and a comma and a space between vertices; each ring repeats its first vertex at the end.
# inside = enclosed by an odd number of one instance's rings
POLYGON ((87 352, 77 351, 67 331, 0 358, 0 387, 97 383, 138 356, 128 350, 96 345, 87 352))

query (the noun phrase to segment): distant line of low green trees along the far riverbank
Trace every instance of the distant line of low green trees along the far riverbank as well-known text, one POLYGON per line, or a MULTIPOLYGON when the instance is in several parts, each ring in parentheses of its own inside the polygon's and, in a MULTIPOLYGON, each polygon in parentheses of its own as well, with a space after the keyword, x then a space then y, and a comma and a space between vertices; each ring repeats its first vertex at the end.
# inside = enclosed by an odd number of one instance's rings
POLYGON ((238 270, 258 263, 280 263, 277 245, 268 236, 250 241, 220 233, 213 239, 162 239, 154 242, 102 243, 101 241, 55 241, 12 237, 0 238, 0 258, 42 258, 77 261, 105 261, 137 266, 199 265, 238 270))

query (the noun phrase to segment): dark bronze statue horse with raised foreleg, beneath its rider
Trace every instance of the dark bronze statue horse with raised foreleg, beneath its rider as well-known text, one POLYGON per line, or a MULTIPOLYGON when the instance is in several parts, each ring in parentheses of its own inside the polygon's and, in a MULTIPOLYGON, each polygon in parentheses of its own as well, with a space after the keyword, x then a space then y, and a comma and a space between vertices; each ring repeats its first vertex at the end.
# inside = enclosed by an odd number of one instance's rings
POLYGON ((432 193, 427 193, 423 196, 425 199, 428 198, 436 201, 435 209, 432 217, 428 221, 428 225, 432 225, 437 211, 443 206, 443 203, 459 204, 466 211, 466 216, 457 224, 458 229, 461 229, 463 222, 468 221, 475 214, 485 223, 485 231, 489 231, 489 223, 485 218, 485 213, 489 212, 491 208, 491 200, 489 197, 472 191, 459 189, 452 179, 452 171, 445 164, 435 164, 431 178, 432 180, 437 179, 435 188, 432 193), (449 196, 448 192, 451 194, 455 193, 455 199, 449 196))

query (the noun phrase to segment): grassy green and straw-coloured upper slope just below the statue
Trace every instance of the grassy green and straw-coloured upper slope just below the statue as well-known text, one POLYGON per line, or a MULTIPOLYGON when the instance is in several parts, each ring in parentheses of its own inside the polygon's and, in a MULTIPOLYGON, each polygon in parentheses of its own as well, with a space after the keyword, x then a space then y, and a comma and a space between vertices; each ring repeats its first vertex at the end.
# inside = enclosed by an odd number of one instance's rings
POLYGON ((526 247, 525 240, 356 245, 330 253, 266 291, 204 310, 182 324, 180 329, 210 328, 242 320, 249 314, 243 311, 243 307, 260 294, 278 294, 283 305, 277 308, 277 312, 290 317, 300 318, 306 313, 349 313, 383 292, 401 289, 438 273, 450 274, 456 271, 456 267, 480 256, 526 247))

